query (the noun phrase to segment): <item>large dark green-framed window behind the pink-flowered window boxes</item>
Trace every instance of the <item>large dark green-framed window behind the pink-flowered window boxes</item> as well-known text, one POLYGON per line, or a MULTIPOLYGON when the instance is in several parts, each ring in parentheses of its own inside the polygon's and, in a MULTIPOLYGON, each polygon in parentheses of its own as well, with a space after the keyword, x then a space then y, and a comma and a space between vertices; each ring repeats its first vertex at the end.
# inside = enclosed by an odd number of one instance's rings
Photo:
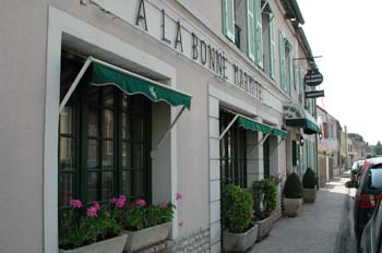
MULTIPOLYGON (((62 58, 61 99, 81 67, 62 58)), ((60 113, 59 206, 118 194, 150 201, 151 101, 85 80, 60 113)))

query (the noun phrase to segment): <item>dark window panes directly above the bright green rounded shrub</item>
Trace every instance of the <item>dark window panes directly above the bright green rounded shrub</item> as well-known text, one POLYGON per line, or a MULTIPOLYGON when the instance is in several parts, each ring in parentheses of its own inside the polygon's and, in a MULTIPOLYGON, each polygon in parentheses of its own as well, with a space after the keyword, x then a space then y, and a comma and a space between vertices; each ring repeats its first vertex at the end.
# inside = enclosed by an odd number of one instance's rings
MULTIPOLYGON (((220 110, 220 133, 234 119, 234 115, 220 110)), ((220 140, 220 180, 247 188, 247 136, 246 130, 234 123, 220 140)))

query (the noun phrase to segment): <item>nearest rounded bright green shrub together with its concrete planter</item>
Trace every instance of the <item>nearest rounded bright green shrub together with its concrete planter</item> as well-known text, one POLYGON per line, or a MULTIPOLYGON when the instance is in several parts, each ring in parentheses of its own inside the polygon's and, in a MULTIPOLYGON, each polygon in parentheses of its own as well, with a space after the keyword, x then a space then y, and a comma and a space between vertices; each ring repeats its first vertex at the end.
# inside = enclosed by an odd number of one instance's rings
POLYGON ((256 240, 258 226, 252 224, 252 195, 234 184, 222 190, 223 250, 246 252, 256 240))

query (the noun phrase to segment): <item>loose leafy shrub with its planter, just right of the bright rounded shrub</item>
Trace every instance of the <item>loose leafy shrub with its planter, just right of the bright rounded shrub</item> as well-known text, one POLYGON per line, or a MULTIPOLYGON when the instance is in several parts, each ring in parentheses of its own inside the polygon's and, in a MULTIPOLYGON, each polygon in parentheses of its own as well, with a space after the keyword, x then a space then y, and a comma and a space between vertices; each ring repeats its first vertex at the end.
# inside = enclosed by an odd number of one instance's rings
POLYGON ((263 240, 272 230, 272 213, 277 205, 277 184, 271 179, 255 181, 252 184, 254 224, 258 225, 258 241, 263 240))

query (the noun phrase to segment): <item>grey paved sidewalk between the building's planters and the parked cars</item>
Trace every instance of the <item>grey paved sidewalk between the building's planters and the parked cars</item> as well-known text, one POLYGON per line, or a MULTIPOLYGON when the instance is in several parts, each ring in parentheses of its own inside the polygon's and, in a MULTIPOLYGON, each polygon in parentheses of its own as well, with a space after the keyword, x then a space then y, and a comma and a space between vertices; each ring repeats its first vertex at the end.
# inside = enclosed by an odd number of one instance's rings
POLYGON ((249 252, 331 253, 345 252, 344 237, 349 230, 347 174, 335 177, 318 191, 314 204, 303 204, 298 217, 283 217, 271 234, 249 252), (345 233, 344 233, 345 232, 345 233))

